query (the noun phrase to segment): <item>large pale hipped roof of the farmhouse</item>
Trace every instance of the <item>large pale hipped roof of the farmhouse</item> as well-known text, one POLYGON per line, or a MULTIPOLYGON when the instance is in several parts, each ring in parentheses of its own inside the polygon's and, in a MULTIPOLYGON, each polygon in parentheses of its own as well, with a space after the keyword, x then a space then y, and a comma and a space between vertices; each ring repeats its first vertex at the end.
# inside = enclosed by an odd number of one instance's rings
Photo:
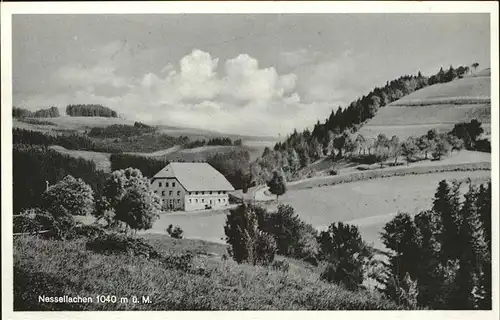
POLYGON ((233 191, 226 177, 206 162, 171 162, 153 176, 176 178, 187 191, 233 191))

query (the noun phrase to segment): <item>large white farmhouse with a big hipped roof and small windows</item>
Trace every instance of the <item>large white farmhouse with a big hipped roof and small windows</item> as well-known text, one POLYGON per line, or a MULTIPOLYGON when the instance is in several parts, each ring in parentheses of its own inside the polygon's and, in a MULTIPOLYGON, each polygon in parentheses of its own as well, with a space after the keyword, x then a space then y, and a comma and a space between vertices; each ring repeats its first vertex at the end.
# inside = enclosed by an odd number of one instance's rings
POLYGON ((169 210, 193 211, 221 208, 234 191, 226 178, 208 163, 172 162, 151 181, 154 192, 169 210))

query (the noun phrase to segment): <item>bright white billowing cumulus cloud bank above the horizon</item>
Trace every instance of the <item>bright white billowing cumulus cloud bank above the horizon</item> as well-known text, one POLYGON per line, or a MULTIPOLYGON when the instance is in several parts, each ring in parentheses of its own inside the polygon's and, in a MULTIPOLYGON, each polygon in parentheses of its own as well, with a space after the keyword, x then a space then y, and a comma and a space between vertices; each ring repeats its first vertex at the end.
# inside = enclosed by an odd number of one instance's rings
MULTIPOLYGON (((116 43, 104 50, 107 56, 119 51, 116 43)), ((150 123, 255 135, 284 135, 310 126, 331 107, 324 100, 304 103, 297 74, 261 68, 248 54, 219 64, 218 58, 195 49, 177 64, 166 63, 140 77, 123 77, 118 71, 110 59, 91 67, 62 67, 54 79, 73 90, 44 104, 101 103, 127 118, 150 123), (106 86, 124 92, 106 96, 95 90, 106 86)), ((28 103, 41 105, 43 99, 31 97, 28 103)))

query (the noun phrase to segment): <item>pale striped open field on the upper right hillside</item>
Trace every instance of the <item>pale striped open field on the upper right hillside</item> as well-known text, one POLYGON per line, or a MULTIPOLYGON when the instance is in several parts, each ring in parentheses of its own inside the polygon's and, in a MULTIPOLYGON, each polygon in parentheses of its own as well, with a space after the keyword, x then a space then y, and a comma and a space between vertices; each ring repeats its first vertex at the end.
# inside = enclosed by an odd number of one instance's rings
POLYGON ((417 90, 384 108, 360 129, 365 137, 385 133, 405 139, 436 129, 447 132, 458 122, 477 119, 485 134, 491 122, 491 72, 489 69, 448 83, 417 90))

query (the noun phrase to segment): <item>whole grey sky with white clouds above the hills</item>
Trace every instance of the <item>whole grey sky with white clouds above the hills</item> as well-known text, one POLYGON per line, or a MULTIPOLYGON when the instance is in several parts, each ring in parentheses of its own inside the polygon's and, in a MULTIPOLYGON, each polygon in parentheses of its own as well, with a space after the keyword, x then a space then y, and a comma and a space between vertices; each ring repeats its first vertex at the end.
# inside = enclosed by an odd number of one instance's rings
POLYGON ((312 127, 404 74, 490 66, 488 14, 14 15, 12 28, 15 106, 98 103, 251 135, 312 127))

